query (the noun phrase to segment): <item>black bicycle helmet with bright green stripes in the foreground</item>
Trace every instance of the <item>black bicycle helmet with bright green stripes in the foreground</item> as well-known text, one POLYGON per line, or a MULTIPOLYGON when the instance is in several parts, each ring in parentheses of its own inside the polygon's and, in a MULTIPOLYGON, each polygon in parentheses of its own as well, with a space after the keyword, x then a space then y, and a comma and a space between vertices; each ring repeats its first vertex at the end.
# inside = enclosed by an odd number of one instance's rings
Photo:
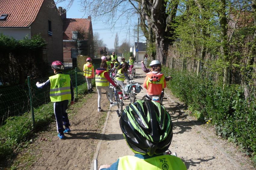
POLYGON ((173 138, 170 115, 158 102, 137 100, 123 110, 120 120, 123 136, 135 153, 164 153, 173 138))

